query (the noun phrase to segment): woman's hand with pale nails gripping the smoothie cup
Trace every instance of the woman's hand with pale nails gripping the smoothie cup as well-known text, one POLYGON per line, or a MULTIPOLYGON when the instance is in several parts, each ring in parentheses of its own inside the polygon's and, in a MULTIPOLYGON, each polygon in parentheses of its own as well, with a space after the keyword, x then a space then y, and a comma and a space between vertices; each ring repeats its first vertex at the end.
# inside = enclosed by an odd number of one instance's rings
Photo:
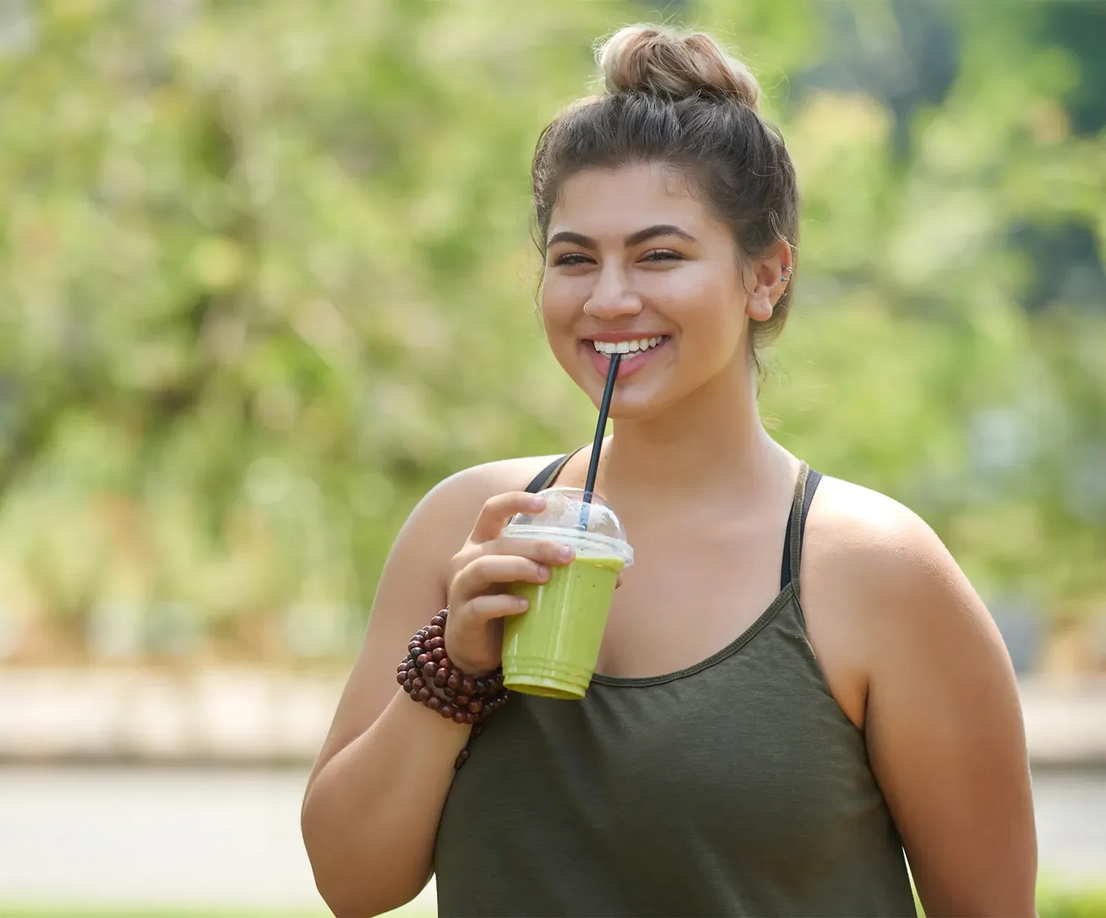
POLYGON ((471 676, 500 665, 507 615, 526 611, 526 601, 507 592, 513 583, 545 583, 552 565, 568 564, 567 545, 532 539, 503 539, 503 526, 515 513, 539 513, 545 498, 509 491, 490 498, 462 547, 453 555, 449 584, 446 649, 449 659, 471 676))

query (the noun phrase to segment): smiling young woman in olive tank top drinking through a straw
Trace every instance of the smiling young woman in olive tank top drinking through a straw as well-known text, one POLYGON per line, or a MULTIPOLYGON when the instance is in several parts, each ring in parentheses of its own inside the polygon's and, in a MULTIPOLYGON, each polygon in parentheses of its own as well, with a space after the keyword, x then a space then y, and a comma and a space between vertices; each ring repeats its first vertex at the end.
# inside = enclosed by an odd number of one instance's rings
POLYGON ((605 352, 628 352, 596 490, 635 565, 587 697, 513 695, 472 737, 445 699, 411 703, 396 663, 448 606, 452 665, 499 665, 502 617, 525 614, 505 586, 572 556, 501 529, 582 487, 588 450, 422 500, 304 800, 319 889, 340 916, 432 872, 445 916, 912 915, 908 859, 930 916, 1033 915, 1025 740, 987 609, 914 513, 810 471, 758 417, 799 204, 755 81, 650 27, 599 62, 606 94, 534 157, 541 311, 596 403, 605 352))

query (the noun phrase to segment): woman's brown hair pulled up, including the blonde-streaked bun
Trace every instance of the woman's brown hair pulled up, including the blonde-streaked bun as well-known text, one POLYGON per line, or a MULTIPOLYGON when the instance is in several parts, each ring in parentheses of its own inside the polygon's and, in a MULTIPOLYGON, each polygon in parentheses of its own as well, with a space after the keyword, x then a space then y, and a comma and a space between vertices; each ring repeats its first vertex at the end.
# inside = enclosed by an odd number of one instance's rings
MULTIPOLYGON (((628 25, 599 48, 606 94, 582 100, 541 134, 531 179, 538 244, 565 179, 588 167, 665 163, 687 169, 706 202, 733 230, 747 258, 799 239, 799 188, 779 131, 759 112, 760 86, 745 66, 701 32, 628 25)), ((755 345, 780 333, 787 284, 771 319, 754 322, 755 345)))

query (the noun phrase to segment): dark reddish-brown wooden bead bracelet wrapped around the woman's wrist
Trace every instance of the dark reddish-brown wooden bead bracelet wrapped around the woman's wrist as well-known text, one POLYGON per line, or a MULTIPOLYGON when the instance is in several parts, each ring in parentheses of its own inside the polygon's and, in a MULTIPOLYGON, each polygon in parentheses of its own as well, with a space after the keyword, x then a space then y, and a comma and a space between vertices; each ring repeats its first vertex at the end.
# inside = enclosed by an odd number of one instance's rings
MULTIPOLYGON (((425 628, 419 629, 407 645, 407 655, 396 667, 396 681, 413 701, 426 705, 455 723, 473 724, 472 736, 479 736, 488 714, 502 708, 511 692, 503 687, 502 667, 487 676, 473 678, 453 666, 446 655, 446 619, 442 609, 425 628)), ((469 758, 461 750, 453 768, 459 769, 469 758)))

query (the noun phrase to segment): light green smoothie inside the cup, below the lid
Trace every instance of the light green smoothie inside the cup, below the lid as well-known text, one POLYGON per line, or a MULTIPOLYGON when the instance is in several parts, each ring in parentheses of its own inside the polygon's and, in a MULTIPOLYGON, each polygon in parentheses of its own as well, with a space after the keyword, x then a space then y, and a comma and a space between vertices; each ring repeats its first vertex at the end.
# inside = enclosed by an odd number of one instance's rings
POLYGON ((530 608, 503 619, 503 685, 544 698, 584 697, 599 656, 620 557, 551 567, 547 583, 517 583, 530 608))

